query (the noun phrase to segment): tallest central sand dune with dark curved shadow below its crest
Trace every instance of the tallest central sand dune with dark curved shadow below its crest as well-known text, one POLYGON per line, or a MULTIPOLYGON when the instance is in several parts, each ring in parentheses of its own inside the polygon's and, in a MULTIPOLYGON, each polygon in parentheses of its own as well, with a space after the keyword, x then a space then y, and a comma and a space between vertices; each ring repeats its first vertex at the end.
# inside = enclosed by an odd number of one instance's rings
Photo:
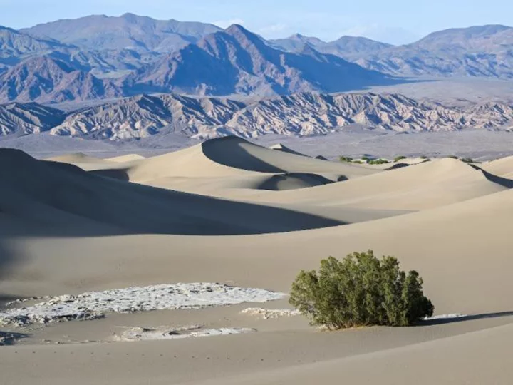
MULTIPOLYGON (((82 163, 80 158, 68 156, 60 158, 69 163, 82 163)), ((108 167, 101 164, 98 170, 113 168, 117 178, 125 178, 137 183, 162 178, 203 178, 240 175, 309 173, 318 174, 330 180, 346 180, 361 175, 371 175, 377 170, 363 168, 360 165, 326 162, 296 155, 294 153, 271 150, 254 145, 235 137, 207 140, 175 153, 130 160, 122 165, 108 167)), ((88 168, 88 170, 93 170, 88 168)))

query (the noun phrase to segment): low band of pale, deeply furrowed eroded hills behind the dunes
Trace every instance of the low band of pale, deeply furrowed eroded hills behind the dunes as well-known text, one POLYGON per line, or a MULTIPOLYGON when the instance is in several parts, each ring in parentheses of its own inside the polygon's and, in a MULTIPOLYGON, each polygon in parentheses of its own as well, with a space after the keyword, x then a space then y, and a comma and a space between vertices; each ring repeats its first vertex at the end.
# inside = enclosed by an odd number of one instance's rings
POLYGON ((123 140, 167 133, 194 138, 323 135, 354 124, 390 132, 513 130, 513 106, 489 102, 463 108, 375 93, 295 93, 252 103, 142 95, 67 113, 37 103, 0 106, 1 133, 47 131, 86 139, 123 140))

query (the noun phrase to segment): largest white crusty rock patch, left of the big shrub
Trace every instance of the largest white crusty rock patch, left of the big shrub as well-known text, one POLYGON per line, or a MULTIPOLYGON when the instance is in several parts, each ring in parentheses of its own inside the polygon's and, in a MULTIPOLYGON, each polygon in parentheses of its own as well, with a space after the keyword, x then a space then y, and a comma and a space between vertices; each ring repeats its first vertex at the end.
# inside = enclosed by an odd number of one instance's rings
POLYGON ((264 289, 247 289, 215 283, 160 284, 128 287, 105 292, 49 297, 31 307, 0 312, 0 324, 59 322, 71 319, 95 319, 105 314, 147 312, 164 309, 201 309, 244 302, 267 302, 286 294, 264 289))

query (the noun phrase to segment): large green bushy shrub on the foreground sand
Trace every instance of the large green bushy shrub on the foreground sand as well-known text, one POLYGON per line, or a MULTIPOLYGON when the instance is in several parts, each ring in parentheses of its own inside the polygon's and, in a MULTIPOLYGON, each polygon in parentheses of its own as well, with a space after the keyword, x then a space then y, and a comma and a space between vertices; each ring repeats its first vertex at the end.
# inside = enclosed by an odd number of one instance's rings
POLYGON ((418 272, 406 274, 395 257, 379 260, 369 250, 343 260, 329 257, 318 271, 301 271, 289 302, 311 324, 328 329, 410 326, 434 310, 422 286, 418 272))

